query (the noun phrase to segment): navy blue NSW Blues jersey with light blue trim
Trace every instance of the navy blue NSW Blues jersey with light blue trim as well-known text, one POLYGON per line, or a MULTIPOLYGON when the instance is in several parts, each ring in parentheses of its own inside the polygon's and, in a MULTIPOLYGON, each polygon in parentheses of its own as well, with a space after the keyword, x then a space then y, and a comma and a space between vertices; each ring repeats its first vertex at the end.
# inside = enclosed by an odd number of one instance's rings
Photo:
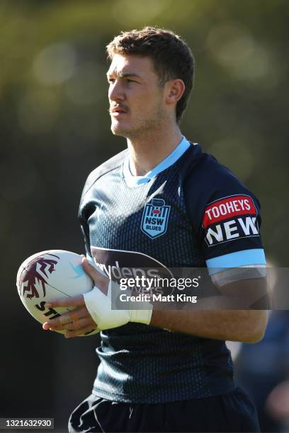
MULTIPOLYGON (((79 217, 87 253, 109 277, 128 277, 137 267, 264 262, 258 201, 186 139, 135 181, 127 150, 96 168, 79 217)), ((220 340, 128 323, 101 332, 97 353, 93 392, 108 400, 165 403, 234 389, 232 359, 220 340)))

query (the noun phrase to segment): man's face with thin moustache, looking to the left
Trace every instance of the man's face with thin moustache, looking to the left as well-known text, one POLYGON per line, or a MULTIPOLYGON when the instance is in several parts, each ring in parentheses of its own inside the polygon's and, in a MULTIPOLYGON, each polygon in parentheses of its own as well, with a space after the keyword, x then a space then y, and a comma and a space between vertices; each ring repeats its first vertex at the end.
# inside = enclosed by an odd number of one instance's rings
POLYGON ((166 110, 152 59, 115 54, 107 75, 113 134, 135 139, 153 132, 166 110))

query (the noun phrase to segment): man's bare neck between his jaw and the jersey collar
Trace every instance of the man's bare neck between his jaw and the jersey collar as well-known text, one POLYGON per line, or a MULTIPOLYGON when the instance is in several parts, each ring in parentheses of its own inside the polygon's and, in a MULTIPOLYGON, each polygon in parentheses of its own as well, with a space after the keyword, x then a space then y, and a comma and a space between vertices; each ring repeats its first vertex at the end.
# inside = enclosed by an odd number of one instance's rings
POLYGON ((176 149, 181 138, 178 125, 171 128, 159 128, 147 135, 142 135, 140 139, 128 138, 132 175, 142 176, 151 171, 176 149))

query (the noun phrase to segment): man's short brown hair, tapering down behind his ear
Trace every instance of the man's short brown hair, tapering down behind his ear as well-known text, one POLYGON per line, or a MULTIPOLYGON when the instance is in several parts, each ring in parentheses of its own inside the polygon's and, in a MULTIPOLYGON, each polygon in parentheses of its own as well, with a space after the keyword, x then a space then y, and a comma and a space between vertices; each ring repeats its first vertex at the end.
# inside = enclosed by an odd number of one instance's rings
POLYGON ((145 27, 142 30, 122 32, 107 45, 108 59, 114 54, 135 54, 152 59, 159 84, 181 79, 185 84, 183 96, 176 104, 176 121, 180 122, 193 88, 194 58, 181 37, 171 30, 145 27))

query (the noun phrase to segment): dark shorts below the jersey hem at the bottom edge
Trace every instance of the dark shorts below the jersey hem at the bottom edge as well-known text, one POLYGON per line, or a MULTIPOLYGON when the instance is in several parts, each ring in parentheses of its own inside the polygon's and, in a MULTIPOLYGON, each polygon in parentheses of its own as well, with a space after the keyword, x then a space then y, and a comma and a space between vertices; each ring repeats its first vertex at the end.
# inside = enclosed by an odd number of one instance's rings
POLYGON ((72 432, 259 432, 254 405, 240 389, 157 404, 120 403, 91 394, 69 418, 72 432))

